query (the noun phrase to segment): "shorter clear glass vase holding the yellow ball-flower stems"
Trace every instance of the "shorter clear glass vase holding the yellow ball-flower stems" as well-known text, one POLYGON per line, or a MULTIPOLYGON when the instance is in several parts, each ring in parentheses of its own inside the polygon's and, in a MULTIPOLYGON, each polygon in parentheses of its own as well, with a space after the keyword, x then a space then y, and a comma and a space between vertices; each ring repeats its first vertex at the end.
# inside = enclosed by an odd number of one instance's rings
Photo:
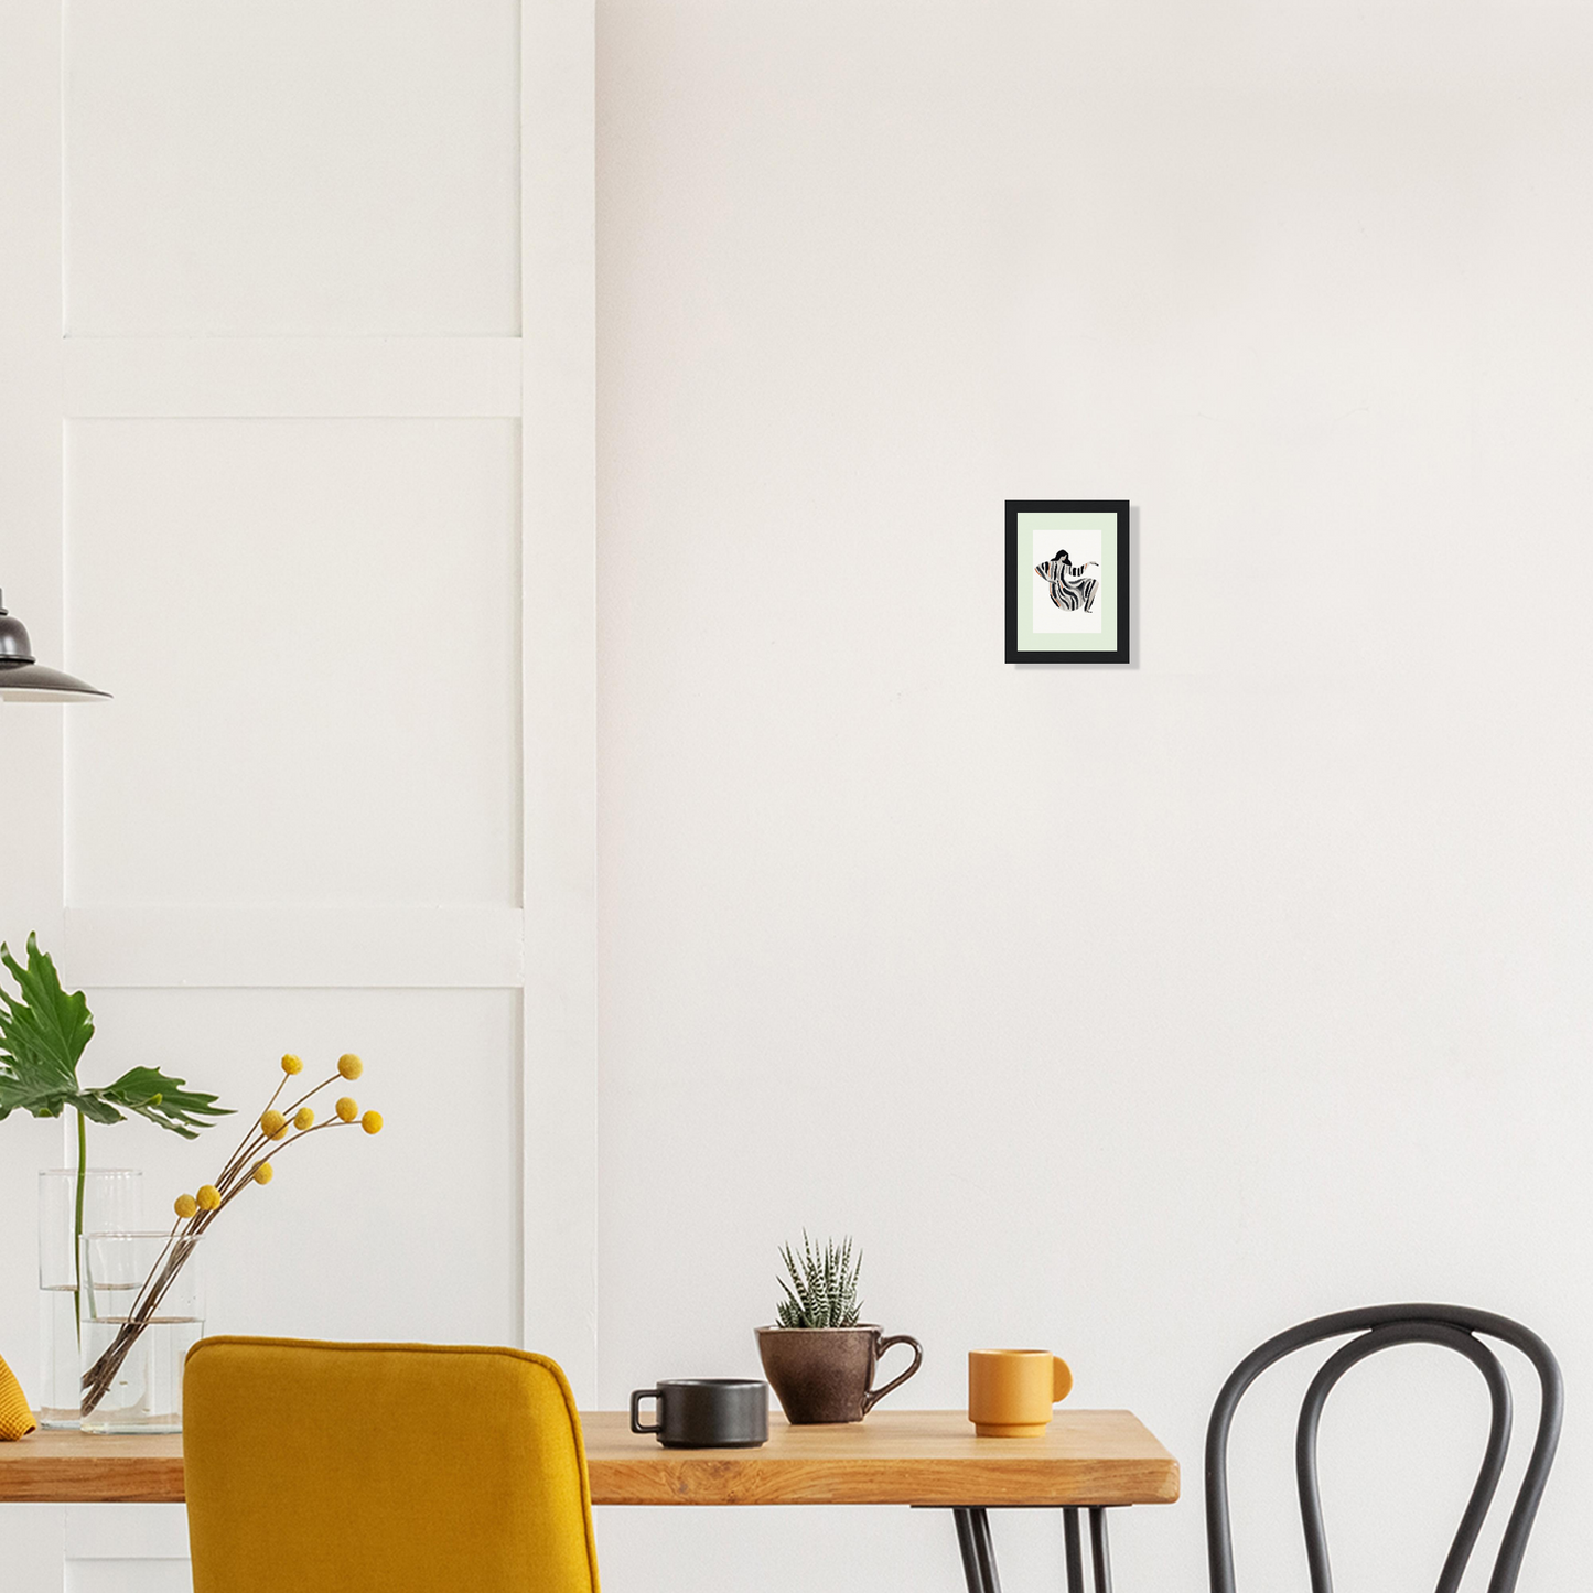
POLYGON ((84 1233, 84 1432, 182 1432, 183 1360, 204 1335, 204 1239, 84 1233))

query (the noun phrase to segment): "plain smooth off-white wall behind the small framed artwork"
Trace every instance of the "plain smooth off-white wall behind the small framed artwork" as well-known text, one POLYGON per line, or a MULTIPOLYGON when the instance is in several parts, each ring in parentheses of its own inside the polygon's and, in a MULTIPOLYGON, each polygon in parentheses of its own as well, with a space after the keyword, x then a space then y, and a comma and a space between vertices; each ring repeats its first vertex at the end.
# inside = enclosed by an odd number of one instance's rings
MULTIPOLYGON (((752 1370, 776 1243, 851 1231, 895 1400, 1061 1349, 1184 1462, 1120 1585, 1195 1588, 1228 1367, 1472 1301, 1564 1360, 1572 1583, 1590 81, 1580 6, 601 8, 604 1403, 752 1370), (1136 505, 1133 667, 1000 661, 1047 495, 1136 505)), ((1344 1585, 1435 1575, 1481 1392, 1429 1359, 1330 1411, 1344 1585)), ((601 1531, 612 1593, 957 1582, 908 1512, 601 1531)))

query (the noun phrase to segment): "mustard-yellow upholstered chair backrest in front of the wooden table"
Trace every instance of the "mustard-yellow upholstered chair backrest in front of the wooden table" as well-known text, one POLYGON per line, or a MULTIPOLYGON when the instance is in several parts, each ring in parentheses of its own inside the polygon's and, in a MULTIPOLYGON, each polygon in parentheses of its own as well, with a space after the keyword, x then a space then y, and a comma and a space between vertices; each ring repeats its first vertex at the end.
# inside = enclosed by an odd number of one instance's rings
POLYGON ((194 1593, 597 1593, 580 1418, 519 1349, 205 1338, 194 1593))

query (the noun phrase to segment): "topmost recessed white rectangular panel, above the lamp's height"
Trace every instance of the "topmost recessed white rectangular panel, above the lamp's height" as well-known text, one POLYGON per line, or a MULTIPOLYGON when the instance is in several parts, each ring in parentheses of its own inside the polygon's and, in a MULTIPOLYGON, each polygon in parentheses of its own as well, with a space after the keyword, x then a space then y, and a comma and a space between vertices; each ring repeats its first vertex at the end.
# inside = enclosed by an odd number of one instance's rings
POLYGON ((72 0, 72 333, 518 330, 516 0, 72 0))

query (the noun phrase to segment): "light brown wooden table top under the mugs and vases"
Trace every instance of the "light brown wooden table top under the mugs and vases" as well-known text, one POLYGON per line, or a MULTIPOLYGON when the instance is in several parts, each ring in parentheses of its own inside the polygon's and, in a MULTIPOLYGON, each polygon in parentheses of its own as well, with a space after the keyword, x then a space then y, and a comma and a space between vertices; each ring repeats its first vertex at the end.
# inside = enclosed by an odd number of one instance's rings
MULTIPOLYGON (((666 1450, 624 1411, 581 1416, 593 1504, 1171 1504, 1179 1462, 1126 1410, 1058 1411, 1040 1438, 978 1438, 961 1410, 836 1427, 769 1418, 758 1450, 666 1450)), ((0 1443, 0 1501, 182 1504, 182 1435, 35 1432, 0 1443)))

